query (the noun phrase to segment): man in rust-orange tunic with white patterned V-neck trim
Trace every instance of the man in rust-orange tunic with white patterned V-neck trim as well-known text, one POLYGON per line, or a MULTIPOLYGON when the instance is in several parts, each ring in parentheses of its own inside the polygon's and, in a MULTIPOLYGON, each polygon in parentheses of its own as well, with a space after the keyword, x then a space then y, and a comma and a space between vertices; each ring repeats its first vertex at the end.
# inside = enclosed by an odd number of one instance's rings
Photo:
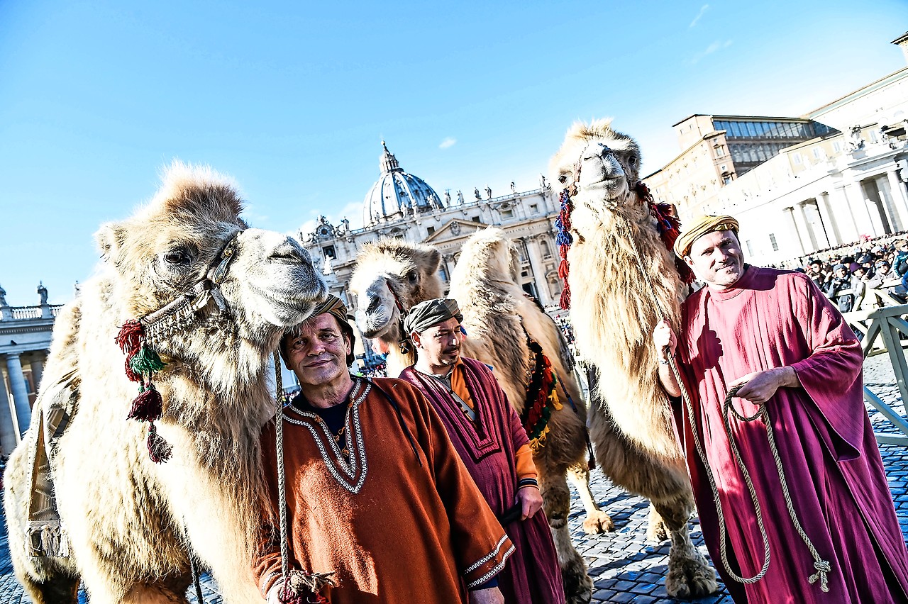
POLYGON ((281 340, 281 355, 301 385, 278 418, 288 582, 305 589, 281 595, 271 421, 262 431, 269 505, 252 561, 262 595, 269 604, 500 604, 489 582, 514 547, 439 415, 405 382, 351 376, 352 346, 347 309, 337 297, 281 340))

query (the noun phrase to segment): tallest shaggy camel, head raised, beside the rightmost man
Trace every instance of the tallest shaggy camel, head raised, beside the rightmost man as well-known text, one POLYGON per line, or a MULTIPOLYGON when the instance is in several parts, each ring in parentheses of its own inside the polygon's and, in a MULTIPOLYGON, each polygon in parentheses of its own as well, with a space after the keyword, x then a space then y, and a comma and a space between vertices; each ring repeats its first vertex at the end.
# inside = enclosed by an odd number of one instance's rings
POLYGON ((659 309, 677 329, 685 287, 635 191, 639 167, 637 142, 608 121, 574 124, 552 158, 553 177, 573 203, 571 321, 577 349, 598 375, 590 424, 597 460, 612 482, 652 502, 650 538, 664 536, 664 521, 672 540, 668 593, 698 597, 716 590, 716 573, 688 534, 693 493, 651 339, 659 309))

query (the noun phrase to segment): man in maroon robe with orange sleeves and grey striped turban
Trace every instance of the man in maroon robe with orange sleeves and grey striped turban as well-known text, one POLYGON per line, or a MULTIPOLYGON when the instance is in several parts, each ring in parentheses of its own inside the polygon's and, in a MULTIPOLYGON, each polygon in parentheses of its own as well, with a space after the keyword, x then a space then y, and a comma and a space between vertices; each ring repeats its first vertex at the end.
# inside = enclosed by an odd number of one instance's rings
POLYGON ((451 442, 515 553, 498 574, 506 604, 563 604, 558 555, 542 507, 527 432, 486 365, 460 356, 463 318, 457 302, 438 298, 410 309, 406 329, 416 365, 400 379, 439 412, 451 442))

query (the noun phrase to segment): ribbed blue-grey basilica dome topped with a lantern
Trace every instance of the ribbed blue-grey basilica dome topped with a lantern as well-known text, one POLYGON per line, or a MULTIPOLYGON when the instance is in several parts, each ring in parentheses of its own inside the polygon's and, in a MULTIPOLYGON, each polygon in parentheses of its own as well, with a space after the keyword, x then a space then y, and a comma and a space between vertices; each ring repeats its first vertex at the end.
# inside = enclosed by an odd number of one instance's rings
POLYGON ((403 218, 407 215, 433 209, 445 209, 438 193, 425 180, 408 174, 400 168, 397 158, 381 141, 381 176, 366 193, 362 203, 362 224, 370 227, 384 220, 403 218))

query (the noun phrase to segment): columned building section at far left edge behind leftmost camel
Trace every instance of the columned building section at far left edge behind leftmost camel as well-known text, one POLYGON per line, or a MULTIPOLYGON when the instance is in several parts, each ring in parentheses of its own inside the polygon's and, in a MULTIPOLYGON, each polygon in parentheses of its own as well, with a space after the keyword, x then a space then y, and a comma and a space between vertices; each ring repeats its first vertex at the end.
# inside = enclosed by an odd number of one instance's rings
POLYGON ((54 318, 62 305, 47 304, 38 286, 39 304, 11 307, 0 287, 0 453, 13 453, 32 417, 38 385, 51 346, 54 318))

